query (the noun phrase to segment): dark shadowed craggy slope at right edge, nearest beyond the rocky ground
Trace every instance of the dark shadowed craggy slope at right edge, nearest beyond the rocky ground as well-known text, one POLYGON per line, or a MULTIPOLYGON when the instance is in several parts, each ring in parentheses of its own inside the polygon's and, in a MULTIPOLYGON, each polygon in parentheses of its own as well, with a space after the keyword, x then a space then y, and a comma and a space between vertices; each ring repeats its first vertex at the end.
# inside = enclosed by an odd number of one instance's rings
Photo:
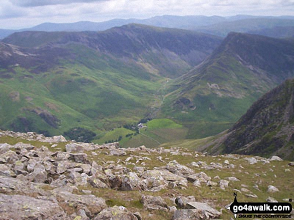
POLYGON ((294 159, 294 79, 263 95, 229 130, 223 153, 294 159))

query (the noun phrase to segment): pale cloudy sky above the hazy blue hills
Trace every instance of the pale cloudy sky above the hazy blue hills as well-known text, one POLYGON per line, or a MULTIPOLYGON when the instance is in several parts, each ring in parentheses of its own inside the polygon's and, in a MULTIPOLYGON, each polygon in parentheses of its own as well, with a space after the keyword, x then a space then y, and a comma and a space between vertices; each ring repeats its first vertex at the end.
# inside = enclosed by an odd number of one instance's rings
POLYGON ((294 0, 1 0, 0 28, 163 14, 294 15, 294 0))

